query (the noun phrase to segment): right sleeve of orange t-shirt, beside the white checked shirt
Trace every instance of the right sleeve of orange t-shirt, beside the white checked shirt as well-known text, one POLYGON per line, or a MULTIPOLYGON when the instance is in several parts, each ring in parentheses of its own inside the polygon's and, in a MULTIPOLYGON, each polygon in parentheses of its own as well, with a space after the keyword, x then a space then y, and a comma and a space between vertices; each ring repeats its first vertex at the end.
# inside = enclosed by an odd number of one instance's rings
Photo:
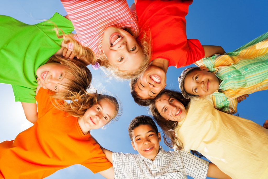
POLYGON ((99 144, 97 144, 91 137, 91 149, 92 157, 87 159, 85 162, 81 163, 81 165, 90 169, 93 173, 98 173, 103 170, 107 170, 113 165, 106 159, 105 154, 103 153, 99 144))

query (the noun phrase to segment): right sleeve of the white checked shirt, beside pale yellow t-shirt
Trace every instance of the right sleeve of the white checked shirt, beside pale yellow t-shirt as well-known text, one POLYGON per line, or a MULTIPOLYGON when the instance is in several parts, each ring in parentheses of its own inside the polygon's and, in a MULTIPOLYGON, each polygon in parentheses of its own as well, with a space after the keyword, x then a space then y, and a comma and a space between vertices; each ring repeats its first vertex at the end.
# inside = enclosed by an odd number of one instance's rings
POLYGON ((203 160, 195 155, 190 154, 184 150, 179 150, 181 162, 185 169, 185 174, 195 179, 205 179, 207 177, 207 170, 209 162, 203 160))

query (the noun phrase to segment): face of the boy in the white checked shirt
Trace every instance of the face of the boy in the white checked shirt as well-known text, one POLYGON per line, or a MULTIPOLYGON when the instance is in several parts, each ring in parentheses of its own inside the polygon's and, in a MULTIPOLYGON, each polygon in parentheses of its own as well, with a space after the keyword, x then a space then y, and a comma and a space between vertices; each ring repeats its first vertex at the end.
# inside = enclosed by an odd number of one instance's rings
POLYGON ((145 158, 154 160, 159 151, 160 133, 156 133, 150 125, 139 125, 132 132, 133 149, 145 158))

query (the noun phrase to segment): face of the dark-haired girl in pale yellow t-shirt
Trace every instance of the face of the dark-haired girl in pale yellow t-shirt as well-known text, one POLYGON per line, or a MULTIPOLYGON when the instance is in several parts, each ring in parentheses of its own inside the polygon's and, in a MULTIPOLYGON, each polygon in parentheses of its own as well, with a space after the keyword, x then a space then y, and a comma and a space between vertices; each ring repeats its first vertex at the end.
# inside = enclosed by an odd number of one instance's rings
POLYGON ((163 94, 156 102, 157 111, 166 120, 181 122, 186 116, 184 105, 166 94, 163 94))

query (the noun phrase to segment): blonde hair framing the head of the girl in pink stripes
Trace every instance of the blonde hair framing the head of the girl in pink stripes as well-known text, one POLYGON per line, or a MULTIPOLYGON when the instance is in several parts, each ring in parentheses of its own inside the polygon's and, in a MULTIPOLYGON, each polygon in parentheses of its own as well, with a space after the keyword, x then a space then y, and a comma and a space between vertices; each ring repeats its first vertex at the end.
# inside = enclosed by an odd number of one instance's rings
MULTIPOLYGON (((142 51, 144 54, 144 60, 140 64, 140 66, 137 68, 137 70, 135 70, 135 71, 118 70, 118 68, 114 67, 113 65, 111 65, 109 63, 105 54, 101 53, 98 56, 97 62, 101 66, 108 68, 109 72, 108 73, 105 72, 106 75, 113 74, 113 75, 120 77, 120 78, 132 79, 132 78, 138 78, 146 70, 147 66, 150 63, 150 59, 151 59, 151 34, 150 34, 150 31, 149 31, 149 34, 146 34, 146 32, 144 30, 142 31, 142 34, 143 34, 143 38, 138 43, 140 44, 140 46, 142 48, 142 51)), ((137 38, 136 36, 134 36, 134 37, 137 38)))

